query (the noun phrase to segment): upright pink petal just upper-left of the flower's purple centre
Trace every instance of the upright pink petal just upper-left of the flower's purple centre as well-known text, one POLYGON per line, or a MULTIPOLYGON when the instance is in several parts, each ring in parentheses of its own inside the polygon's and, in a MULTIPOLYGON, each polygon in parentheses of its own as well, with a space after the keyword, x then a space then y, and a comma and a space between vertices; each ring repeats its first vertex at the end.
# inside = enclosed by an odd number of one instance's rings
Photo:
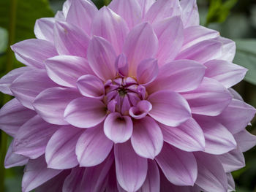
POLYGON ((91 39, 87 56, 89 66, 100 79, 110 80, 116 76, 116 53, 106 39, 102 37, 91 39))

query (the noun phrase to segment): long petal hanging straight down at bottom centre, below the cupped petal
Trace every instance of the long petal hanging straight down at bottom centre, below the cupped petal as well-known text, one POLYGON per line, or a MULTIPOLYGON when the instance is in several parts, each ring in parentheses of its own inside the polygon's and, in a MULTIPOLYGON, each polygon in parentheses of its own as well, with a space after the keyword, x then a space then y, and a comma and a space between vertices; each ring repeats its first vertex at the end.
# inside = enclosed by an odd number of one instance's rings
POLYGON ((138 156, 130 142, 115 145, 116 177, 126 191, 137 191, 146 180, 147 159, 138 156))

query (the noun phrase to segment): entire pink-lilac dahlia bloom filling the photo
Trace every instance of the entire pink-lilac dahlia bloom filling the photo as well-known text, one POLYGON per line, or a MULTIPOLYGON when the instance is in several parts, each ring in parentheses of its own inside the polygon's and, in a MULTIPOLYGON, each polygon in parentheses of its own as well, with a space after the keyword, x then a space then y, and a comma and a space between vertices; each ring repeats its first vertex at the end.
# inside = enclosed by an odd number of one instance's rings
POLYGON ((24 192, 233 191, 255 109, 230 88, 246 73, 235 43, 195 0, 68 0, 34 33, 0 80, 24 192))

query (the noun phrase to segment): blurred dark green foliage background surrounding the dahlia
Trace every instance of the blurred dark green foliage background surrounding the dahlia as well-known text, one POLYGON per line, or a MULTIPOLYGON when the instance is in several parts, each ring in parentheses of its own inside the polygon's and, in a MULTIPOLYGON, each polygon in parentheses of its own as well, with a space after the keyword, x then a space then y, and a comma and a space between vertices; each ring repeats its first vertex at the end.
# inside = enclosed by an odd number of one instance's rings
MULTIPOLYGON (((110 3, 110 0, 93 1, 98 8, 110 3)), ((63 3, 64 0, 0 0, 0 77, 23 66, 15 60, 10 45, 34 38, 35 20, 53 17, 63 3)), ((234 63, 246 67, 249 72, 235 89, 246 103, 256 107, 256 0, 197 0, 197 4, 202 26, 216 29, 223 37, 236 41, 234 63)), ((0 93, 0 107, 10 99, 0 93)), ((247 129, 256 135, 256 119, 247 129)), ((9 143, 10 138, 1 132, 0 192, 3 187, 4 192, 19 192, 23 167, 6 170, 3 167, 9 143)), ((246 167, 233 172, 236 191, 256 192, 256 147, 244 155, 246 167)))

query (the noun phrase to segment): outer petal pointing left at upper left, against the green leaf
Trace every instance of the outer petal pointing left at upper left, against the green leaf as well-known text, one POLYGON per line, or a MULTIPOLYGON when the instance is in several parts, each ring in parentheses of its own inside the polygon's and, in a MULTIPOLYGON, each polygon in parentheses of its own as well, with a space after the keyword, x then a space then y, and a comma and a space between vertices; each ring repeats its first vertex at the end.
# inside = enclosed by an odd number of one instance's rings
POLYGON ((44 61, 58 55, 52 43, 42 39, 28 39, 12 45, 12 50, 29 66, 44 68, 44 61))

